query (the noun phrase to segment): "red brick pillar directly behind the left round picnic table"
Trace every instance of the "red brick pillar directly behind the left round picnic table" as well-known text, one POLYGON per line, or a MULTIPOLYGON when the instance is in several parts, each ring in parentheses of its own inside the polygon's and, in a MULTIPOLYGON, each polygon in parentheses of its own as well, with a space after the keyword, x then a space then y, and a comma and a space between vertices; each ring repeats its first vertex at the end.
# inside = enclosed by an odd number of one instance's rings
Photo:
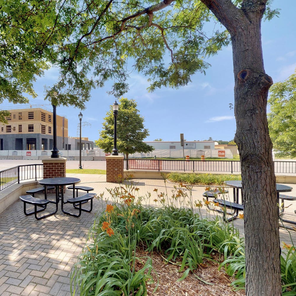
MULTIPOLYGON (((66 177, 66 161, 65 157, 43 159, 43 178, 66 177)), ((65 190, 66 186, 64 192, 65 190)))

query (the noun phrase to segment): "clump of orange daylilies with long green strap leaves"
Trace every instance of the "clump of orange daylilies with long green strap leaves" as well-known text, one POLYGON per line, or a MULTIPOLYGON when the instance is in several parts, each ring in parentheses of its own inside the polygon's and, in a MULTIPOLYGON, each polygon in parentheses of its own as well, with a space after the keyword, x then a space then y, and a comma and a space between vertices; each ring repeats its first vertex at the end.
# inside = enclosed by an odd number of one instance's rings
MULTIPOLYGON (((163 178, 165 181, 165 174, 163 178)), ((150 255, 137 257, 139 247, 147 254, 157 250, 165 263, 179 266, 180 281, 205 264, 206 259, 216 260, 212 255, 218 252, 223 262, 219 259, 217 263, 224 266, 226 274, 235 277, 233 285, 244 288, 244 238, 233 223, 222 220, 224 209, 214 202, 216 198, 229 198, 225 188, 207 187, 211 196, 194 202, 192 186, 182 182, 173 187, 171 194, 165 183, 163 192, 155 188, 145 197, 139 195, 131 176, 128 182, 120 176, 119 183, 107 189, 111 198, 97 214, 90 229, 91 242, 79 255, 71 274, 78 295, 147 295, 146 286, 153 280, 152 260, 150 255), (143 205, 145 198, 151 205, 143 205), (210 209, 219 211, 219 215, 202 218, 204 209, 206 213, 210 209)), ((290 292, 296 290, 296 252, 293 245, 286 243, 283 252, 287 252, 285 258, 280 257, 283 291, 287 288, 290 292)), ((288 295, 292 294, 283 293, 288 295)))

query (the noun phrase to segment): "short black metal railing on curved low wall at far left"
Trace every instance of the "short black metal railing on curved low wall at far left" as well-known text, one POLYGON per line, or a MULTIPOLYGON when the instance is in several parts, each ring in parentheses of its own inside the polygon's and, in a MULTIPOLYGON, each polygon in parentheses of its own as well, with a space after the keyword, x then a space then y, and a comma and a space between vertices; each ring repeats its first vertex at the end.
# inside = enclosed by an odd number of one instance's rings
POLYGON ((0 191, 20 181, 43 178, 43 164, 18 165, 0 171, 0 191))

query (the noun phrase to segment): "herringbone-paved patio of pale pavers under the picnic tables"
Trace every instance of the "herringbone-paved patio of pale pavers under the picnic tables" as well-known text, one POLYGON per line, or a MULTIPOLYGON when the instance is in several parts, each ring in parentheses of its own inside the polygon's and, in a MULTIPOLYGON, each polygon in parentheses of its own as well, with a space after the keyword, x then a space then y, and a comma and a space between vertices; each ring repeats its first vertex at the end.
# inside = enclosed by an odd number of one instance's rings
MULTIPOLYGON (((67 174, 81 179, 81 185, 94 187, 97 194, 104 192, 104 198, 118 184, 107 183, 106 175, 67 174)), ((152 204, 156 194, 167 192, 171 195, 174 184, 163 180, 134 180, 139 195, 151 193, 152 204), (158 192, 153 192, 157 188, 158 192)), ((289 184, 296 190, 296 184, 289 184)), ((205 186, 194 186, 192 198, 202 200, 205 186)), ((82 193, 82 192, 81 192, 82 193)), ((296 193, 291 193, 295 195, 296 193)), ((42 196, 42 195, 40 195, 42 196)), ((72 191, 66 190, 65 196, 72 197, 72 191)), ((232 190, 229 191, 232 198, 232 190)), ((103 198, 103 200, 104 200, 103 198)), ((292 202, 291 202, 292 203, 292 202)), ((285 205, 289 205, 286 201, 285 205)), ((34 215, 25 216, 23 203, 15 202, 0 214, 0 294, 1 296, 70 296, 70 272, 78 254, 85 245, 89 227, 93 224, 97 212, 105 210, 106 202, 94 199, 91 213, 82 212, 79 218, 62 213, 60 206, 56 215, 37 221, 34 215)), ((53 204, 48 205, 54 207, 53 204)), ((65 205, 69 209, 72 205, 65 205)), ((285 216, 296 221, 296 204, 285 209, 285 216)), ((204 207, 203 216, 209 214, 204 207)), ((287 217, 286 217, 287 218, 287 217)), ((236 219, 234 226, 243 234, 243 220, 236 219)), ((282 242, 291 244, 288 231, 280 229, 282 242)), ((296 232, 291 231, 296 242, 296 232)))

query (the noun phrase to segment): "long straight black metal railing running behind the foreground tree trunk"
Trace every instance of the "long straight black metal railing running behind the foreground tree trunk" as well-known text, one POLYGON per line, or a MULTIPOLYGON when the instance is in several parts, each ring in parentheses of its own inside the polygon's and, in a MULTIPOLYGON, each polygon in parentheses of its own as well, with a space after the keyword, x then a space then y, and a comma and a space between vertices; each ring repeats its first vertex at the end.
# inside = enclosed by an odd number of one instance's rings
MULTIPOLYGON (((183 172, 240 173, 239 160, 162 160, 131 158, 125 159, 124 168, 130 170, 169 170, 183 172)), ((295 161, 274 161, 275 173, 296 173, 295 161)))

